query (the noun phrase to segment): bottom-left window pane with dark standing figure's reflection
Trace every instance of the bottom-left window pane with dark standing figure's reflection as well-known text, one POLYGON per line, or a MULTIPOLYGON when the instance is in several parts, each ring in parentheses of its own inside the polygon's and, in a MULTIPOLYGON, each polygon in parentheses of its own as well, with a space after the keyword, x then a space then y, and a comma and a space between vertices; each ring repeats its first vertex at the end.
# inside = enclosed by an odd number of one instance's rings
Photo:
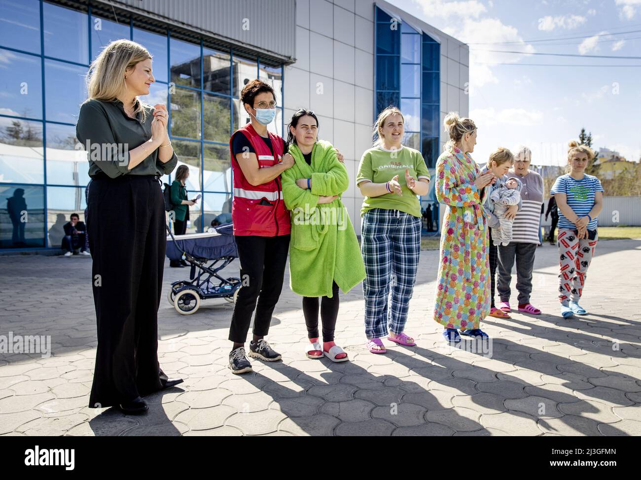
POLYGON ((0 248, 44 247, 44 188, 0 184, 0 248))

